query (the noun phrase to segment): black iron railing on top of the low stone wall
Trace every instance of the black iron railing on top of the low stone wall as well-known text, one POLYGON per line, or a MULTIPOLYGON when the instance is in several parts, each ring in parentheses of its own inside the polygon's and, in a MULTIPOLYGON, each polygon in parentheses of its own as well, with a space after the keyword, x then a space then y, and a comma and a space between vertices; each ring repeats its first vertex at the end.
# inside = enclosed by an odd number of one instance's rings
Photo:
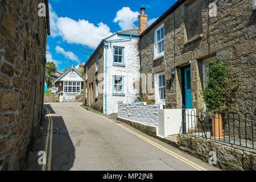
POLYGON ((183 109, 183 133, 255 149, 255 114, 183 109))

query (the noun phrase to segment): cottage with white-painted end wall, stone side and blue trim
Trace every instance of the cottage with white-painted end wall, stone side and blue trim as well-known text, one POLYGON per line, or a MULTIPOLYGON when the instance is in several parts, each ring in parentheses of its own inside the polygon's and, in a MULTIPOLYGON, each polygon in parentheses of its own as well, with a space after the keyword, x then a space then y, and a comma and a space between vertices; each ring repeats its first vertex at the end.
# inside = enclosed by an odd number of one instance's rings
POLYGON ((118 101, 134 102, 139 93, 138 28, 118 31, 101 41, 84 65, 84 104, 117 113, 118 101))

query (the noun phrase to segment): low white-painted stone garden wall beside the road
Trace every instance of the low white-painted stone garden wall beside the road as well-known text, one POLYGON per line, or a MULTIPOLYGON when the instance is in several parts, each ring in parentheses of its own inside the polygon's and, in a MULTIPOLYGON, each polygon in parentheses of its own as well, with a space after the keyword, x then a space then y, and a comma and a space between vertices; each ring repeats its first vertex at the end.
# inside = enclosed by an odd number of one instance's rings
POLYGON ((118 102, 118 118, 157 127, 160 108, 160 105, 146 105, 146 102, 130 104, 118 102))

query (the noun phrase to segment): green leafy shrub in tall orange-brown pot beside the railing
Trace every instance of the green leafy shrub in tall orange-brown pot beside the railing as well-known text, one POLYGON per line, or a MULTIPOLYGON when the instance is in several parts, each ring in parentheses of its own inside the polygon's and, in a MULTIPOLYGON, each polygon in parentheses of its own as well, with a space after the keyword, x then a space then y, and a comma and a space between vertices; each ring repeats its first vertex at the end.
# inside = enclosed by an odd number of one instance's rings
POLYGON ((202 90, 202 95, 207 109, 212 113, 212 137, 223 138, 221 115, 230 110, 238 85, 233 85, 228 77, 225 61, 211 61, 206 76, 207 86, 202 90))

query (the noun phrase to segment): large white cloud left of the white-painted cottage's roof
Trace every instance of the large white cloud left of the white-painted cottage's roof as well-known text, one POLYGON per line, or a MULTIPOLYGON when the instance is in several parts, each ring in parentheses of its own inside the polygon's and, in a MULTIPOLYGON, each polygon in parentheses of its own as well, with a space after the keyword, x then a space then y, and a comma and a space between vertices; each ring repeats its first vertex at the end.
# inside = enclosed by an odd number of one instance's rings
POLYGON ((102 22, 95 26, 84 19, 76 21, 68 17, 59 18, 51 5, 49 5, 49 16, 51 35, 53 38, 61 36, 67 43, 97 47, 102 39, 112 35, 110 28, 102 22))

